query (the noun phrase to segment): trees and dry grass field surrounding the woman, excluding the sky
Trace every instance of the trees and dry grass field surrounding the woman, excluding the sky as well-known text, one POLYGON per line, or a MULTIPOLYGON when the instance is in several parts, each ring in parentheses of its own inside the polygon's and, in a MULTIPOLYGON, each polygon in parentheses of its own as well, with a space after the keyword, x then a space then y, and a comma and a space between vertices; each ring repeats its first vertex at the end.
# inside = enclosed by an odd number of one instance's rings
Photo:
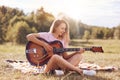
MULTIPOLYGON (((63 12, 60 12, 57 18, 68 21, 70 25, 71 42, 69 47, 103 47, 104 54, 85 52, 86 62, 120 67, 120 24, 112 27, 89 25, 83 23, 82 19, 76 20, 63 12)), ((19 8, 0 6, 0 80, 41 80, 43 78, 44 80, 60 80, 64 77, 55 77, 54 75, 31 75, 28 77, 30 74, 22 74, 20 71, 11 69, 5 63, 7 59, 26 60, 26 35, 34 32, 48 32, 55 19, 56 16, 45 10, 44 6, 27 14, 19 8)), ((118 80, 119 78, 119 72, 98 72, 94 77, 81 77, 73 74, 65 80, 118 80)))

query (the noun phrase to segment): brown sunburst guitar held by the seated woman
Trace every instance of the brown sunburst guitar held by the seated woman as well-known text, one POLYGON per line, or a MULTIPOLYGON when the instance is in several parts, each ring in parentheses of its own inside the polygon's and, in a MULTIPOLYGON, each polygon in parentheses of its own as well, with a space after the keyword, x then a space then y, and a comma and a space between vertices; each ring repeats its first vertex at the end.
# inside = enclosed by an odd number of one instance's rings
MULTIPOLYGON (((44 47, 33 43, 29 41, 26 45, 26 58, 32 65, 41 66, 48 62, 48 60, 51 58, 54 54, 63 54, 64 52, 69 51, 80 51, 80 48, 63 48, 63 45, 60 41, 52 41, 47 42, 46 40, 42 38, 38 38, 39 40, 42 40, 46 43, 48 43, 50 46, 53 47, 53 52, 48 53, 44 47)), ((85 51, 92 51, 92 52, 103 52, 102 47, 90 47, 90 48, 84 48, 85 51)))

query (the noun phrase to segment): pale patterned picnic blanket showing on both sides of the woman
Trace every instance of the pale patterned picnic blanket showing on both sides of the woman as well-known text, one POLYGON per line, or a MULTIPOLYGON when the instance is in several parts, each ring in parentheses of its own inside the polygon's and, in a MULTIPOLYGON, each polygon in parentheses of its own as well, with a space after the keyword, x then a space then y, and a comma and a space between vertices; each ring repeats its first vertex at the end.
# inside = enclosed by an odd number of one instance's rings
MULTIPOLYGON (((39 67, 33 66, 28 61, 6 60, 6 62, 8 63, 8 65, 12 66, 13 69, 20 70, 22 73, 39 74, 39 73, 43 73, 46 67, 45 65, 39 66, 39 67)), ((81 63, 79 64, 79 68, 83 70, 95 70, 95 71, 116 71, 118 70, 118 68, 114 66, 101 67, 94 63, 81 63)))

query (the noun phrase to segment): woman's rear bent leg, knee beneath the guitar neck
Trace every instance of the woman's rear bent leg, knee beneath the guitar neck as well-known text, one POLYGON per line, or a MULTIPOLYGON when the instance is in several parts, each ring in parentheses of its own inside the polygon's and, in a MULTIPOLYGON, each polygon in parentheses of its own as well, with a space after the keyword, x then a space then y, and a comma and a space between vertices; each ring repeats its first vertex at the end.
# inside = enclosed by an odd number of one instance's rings
POLYGON ((71 63, 74 66, 78 66, 79 63, 82 61, 83 56, 79 52, 76 52, 75 55, 73 55, 71 58, 67 59, 69 63, 71 63))

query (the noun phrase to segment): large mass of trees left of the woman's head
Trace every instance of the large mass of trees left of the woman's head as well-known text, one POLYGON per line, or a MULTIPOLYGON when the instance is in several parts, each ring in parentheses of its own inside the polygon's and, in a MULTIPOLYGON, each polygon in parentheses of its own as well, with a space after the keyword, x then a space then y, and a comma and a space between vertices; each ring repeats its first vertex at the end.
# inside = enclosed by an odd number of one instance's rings
POLYGON ((42 8, 36 14, 24 15, 18 9, 1 6, 0 14, 0 43, 26 43, 25 36, 28 33, 48 31, 54 20, 54 16, 42 8))

